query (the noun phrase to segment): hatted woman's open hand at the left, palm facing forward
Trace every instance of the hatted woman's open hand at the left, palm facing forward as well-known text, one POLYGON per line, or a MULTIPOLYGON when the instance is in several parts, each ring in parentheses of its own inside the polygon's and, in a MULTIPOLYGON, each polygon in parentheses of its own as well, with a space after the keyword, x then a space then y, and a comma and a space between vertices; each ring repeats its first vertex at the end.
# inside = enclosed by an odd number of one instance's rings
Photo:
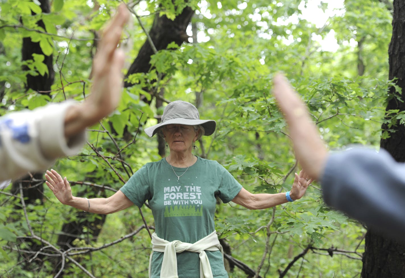
POLYGON ((58 172, 51 169, 51 171, 47 170, 45 178, 47 179, 45 183, 62 204, 67 205, 72 201, 72 190, 66 177, 62 179, 58 172))

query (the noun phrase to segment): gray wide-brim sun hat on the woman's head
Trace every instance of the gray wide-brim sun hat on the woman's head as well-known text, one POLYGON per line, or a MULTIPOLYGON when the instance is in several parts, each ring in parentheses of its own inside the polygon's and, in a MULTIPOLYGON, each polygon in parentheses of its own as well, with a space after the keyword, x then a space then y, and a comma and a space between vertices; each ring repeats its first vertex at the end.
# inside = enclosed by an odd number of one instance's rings
POLYGON ((217 123, 214 120, 201 120, 196 106, 190 102, 176 100, 166 105, 163 110, 162 122, 145 128, 145 133, 152 137, 165 125, 202 125, 204 135, 211 135, 215 131, 217 123))

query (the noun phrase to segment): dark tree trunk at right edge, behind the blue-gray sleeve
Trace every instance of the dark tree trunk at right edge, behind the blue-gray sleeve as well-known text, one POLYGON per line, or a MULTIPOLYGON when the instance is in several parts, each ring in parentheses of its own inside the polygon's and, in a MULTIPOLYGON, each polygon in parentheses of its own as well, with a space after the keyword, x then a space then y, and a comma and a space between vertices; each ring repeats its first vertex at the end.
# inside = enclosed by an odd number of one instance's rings
MULTIPOLYGON (((401 100, 405 101, 405 2, 394 0, 392 17, 392 38, 388 50, 390 63, 390 79, 397 78, 396 85, 402 88, 401 100)), ((405 111, 405 103, 394 95, 395 88, 389 91, 390 100, 386 110, 399 109, 405 111)), ((386 149, 396 161, 405 162, 405 126, 397 124, 390 138, 382 139, 381 148, 386 149)), ((382 129, 388 129, 382 125, 382 129)), ((384 238, 368 230, 363 255, 363 278, 405 277, 405 244, 384 238)))

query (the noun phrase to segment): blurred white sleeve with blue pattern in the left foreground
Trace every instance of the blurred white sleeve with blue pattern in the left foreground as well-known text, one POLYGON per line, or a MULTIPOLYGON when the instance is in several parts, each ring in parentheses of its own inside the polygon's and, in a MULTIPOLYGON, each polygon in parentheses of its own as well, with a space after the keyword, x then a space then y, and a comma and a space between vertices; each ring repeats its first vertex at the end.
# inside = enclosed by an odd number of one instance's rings
POLYGON ((69 142, 64 136, 64 117, 73 103, 48 104, 0 117, 0 185, 27 172, 45 170, 56 158, 80 151, 85 131, 69 142))

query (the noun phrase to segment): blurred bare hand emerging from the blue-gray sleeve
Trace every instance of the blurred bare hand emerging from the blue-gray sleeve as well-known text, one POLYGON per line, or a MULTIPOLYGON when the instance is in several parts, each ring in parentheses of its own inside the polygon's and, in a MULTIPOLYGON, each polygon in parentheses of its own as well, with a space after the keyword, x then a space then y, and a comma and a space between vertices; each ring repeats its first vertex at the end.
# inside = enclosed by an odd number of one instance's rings
POLYGON ((318 180, 323 173, 328 152, 308 109, 282 74, 273 78, 273 95, 290 129, 298 162, 307 174, 318 180))

